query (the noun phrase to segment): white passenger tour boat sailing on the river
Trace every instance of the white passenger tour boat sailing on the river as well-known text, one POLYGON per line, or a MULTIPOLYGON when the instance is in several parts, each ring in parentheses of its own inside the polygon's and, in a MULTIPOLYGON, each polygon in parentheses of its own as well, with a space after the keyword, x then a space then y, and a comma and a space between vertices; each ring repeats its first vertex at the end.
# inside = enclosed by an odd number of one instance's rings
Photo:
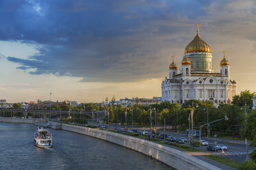
POLYGON ((38 147, 52 147, 52 134, 49 130, 39 127, 34 133, 34 145, 38 147))

